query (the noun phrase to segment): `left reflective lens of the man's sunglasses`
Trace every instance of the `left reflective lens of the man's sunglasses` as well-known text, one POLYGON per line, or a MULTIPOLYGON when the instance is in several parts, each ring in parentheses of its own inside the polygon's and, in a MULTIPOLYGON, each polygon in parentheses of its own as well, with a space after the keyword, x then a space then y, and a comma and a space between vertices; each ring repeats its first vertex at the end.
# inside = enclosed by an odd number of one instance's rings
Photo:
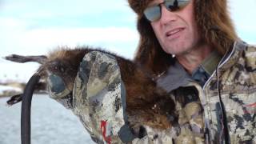
POLYGON ((150 6, 144 10, 144 15, 150 22, 154 22, 161 17, 160 6, 150 6))

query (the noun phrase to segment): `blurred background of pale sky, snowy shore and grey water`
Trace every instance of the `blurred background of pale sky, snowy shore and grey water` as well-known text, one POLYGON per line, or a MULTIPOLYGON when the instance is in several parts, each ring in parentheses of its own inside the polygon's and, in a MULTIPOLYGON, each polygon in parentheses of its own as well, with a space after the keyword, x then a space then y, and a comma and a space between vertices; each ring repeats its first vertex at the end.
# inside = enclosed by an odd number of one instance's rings
MULTIPOLYGON (((256 1, 229 0, 229 7, 239 37, 256 44, 256 1)), ((0 0, 0 57, 47 54, 58 46, 94 46, 133 58, 137 45, 136 15, 126 0, 0 0)), ((19 92, 20 84, 37 68, 35 63, 18 64, 0 58, 0 95, 19 92)), ((32 128, 32 133, 37 131, 32 135, 34 143, 91 142, 73 114, 54 113, 57 115, 54 119, 49 116, 53 109, 67 110, 46 95, 35 99, 38 104, 34 106, 38 107, 34 109, 39 111, 34 112, 37 119, 32 119, 37 123, 36 128, 32 128), (50 110, 46 111, 47 108, 50 110), (44 114, 46 118, 42 118, 44 114), (46 122, 39 121, 47 118, 50 119, 46 122), (59 118, 66 121, 59 122, 59 118), (46 129, 46 126, 53 127, 46 129), (74 132, 65 132, 67 130, 74 132)), ((5 102, 6 98, 0 99, 0 144, 20 143, 20 104, 6 107, 5 102)))

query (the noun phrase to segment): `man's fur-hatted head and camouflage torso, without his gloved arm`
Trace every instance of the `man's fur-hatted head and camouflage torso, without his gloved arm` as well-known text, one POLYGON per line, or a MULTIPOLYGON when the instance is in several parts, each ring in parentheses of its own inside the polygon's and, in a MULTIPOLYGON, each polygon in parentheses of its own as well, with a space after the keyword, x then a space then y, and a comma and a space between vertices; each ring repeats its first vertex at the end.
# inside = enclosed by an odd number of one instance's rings
POLYGON ((138 14, 135 62, 178 102, 174 142, 255 143, 256 47, 239 40, 226 0, 129 3, 138 14))

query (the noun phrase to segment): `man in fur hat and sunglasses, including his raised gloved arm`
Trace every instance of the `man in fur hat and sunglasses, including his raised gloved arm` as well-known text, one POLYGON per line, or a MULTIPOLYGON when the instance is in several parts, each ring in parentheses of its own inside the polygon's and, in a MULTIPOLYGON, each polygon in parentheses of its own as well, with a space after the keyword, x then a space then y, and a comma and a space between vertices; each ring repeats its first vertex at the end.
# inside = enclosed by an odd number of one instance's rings
POLYGON ((139 117, 143 108, 130 117, 128 86, 116 58, 106 53, 85 55, 72 94, 61 78, 50 76, 51 98, 73 110, 97 143, 256 143, 255 47, 238 39, 226 0, 128 2, 141 36, 134 62, 173 98, 176 111, 166 113, 165 122, 174 122, 177 113, 178 125, 146 125, 161 122, 151 109, 146 120, 139 117), (130 119, 139 126, 131 128, 130 119))

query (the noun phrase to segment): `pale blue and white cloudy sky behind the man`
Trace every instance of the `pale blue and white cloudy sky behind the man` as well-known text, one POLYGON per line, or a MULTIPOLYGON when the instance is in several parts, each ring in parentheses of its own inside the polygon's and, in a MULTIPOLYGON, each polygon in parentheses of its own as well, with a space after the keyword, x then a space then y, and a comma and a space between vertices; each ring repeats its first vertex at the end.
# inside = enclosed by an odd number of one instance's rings
MULTIPOLYGON (((240 38, 256 44, 255 0, 229 0, 240 38)), ((58 46, 94 46, 133 58, 136 15, 126 0, 0 0, 0 57, 47 54, 58 46)), ((0 58, 0 80, 26 81, 38 64, 0 58)))

